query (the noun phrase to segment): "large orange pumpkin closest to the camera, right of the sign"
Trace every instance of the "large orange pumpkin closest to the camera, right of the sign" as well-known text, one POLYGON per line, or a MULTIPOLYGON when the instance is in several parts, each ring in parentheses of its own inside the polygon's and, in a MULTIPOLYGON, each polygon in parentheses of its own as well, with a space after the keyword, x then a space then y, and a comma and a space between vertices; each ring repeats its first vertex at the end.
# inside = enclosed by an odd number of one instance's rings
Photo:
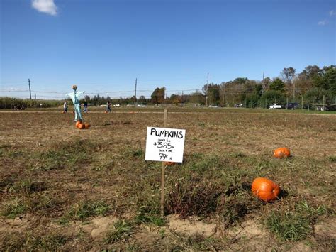
POLYGON ((265 177, 257 177, 252 182, 252 193, 259 199, 269 202, 278 198, 280 187, 265 177))

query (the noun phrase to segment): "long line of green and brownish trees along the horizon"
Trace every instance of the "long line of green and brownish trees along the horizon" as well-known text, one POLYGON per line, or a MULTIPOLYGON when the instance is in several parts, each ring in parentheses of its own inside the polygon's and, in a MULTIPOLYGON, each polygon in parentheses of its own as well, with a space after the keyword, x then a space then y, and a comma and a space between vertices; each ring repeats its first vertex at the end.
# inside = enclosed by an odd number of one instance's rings
POLYGON ((96 95, 89 100, 98 105, 111 101, 118 104, 196 104, 215 106, 247 106, 265 107, 276 102, 298 102, 308 106, 317 104, 335 104, 336 97, 336 66, 320 68, 308 65, 297 73, 293 67, 284 67, 278 77, 264 77, 263 80, 249 80, 237 77, 235 80, 220 84, 205 84, 191 94, 171 94, 167 96, 166 87, 157 87, 150 98, 144 96, 111 99, 96 95), (323 100, 324 99, 324 100, 323 100))

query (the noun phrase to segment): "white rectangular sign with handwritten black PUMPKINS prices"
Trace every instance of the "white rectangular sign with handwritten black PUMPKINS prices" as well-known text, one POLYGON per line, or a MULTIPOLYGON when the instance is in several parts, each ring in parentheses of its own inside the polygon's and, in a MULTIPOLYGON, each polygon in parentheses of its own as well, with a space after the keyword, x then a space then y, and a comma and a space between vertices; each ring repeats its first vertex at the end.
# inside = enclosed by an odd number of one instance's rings
POLYGON ((145 160, 182 163, 185 129, 147 127, 145 160))

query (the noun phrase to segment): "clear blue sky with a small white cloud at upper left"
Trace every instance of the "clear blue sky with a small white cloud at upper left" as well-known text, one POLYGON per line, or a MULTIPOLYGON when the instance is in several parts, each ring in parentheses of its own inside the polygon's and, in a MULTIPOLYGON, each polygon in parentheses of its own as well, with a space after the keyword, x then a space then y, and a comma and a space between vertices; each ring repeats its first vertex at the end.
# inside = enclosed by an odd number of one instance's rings
POLYGON ((130 97, 336 65, 336 1, 1 0, 0 96, 130 97), (124 92, 128 91, 128 92, 124 92), (106 92, 108 92, 106 94, 106 92))

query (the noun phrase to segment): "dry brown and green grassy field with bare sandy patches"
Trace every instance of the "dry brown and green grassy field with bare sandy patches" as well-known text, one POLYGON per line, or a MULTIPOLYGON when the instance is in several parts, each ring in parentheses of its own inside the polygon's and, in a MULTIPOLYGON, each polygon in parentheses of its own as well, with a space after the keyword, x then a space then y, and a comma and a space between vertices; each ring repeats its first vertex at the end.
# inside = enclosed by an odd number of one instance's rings
POLYGON ((145 161, 162 108, 0 111, 0 251, 335 251, 336 114, 171 108, 184 163, 145 161), (292 157, 272 150, 288 147, 292 157), (281 199, 251 193, 268 177, 281 199))

